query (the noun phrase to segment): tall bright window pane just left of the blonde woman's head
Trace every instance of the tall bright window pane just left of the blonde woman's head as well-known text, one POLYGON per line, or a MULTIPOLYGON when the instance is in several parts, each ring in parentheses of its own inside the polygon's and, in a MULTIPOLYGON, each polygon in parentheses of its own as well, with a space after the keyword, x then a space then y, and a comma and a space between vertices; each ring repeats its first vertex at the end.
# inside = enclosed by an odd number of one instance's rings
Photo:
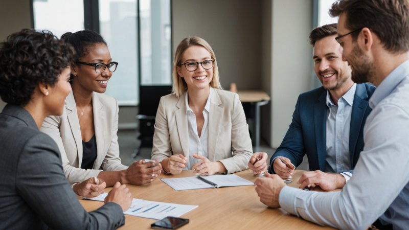
POLYGON ((170 0, 140 0, 141 85, 172 84, 170 0))

